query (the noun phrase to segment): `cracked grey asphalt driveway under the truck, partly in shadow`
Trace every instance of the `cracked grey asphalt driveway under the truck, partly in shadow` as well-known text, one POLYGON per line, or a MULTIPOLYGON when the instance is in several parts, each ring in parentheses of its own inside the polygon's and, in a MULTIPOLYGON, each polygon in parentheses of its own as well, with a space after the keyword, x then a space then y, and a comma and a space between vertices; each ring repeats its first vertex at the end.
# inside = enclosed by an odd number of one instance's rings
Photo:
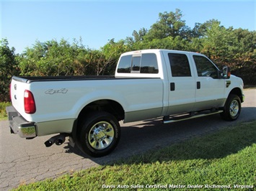
POLYGON ((0 190, 10 190, 20 184, 37 182, 45 178, 115 162, 117 159, 141 154, 151 149, 208 134, 211 131, 256 119, 256 89, 245 90, 245 102, 237 121, 222 121, 219 114, 162 124, 160 119, 121 124, 120 143, 106 157, 92 158, 69 146, 55 144, 46 148, 44 142, 51 136, 32 140, 10 134, 8 121, 0 121, 0 190))

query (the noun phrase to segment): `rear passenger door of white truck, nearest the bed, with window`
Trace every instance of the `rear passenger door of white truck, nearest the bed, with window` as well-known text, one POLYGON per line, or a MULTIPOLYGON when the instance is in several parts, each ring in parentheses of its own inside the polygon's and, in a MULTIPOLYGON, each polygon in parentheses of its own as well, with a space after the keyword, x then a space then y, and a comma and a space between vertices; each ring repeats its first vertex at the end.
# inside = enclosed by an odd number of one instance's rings
POLYGON ((168 114, 193 111, 195 105, 195 76, 187 52, 164 52, 169 71, 168 114))

